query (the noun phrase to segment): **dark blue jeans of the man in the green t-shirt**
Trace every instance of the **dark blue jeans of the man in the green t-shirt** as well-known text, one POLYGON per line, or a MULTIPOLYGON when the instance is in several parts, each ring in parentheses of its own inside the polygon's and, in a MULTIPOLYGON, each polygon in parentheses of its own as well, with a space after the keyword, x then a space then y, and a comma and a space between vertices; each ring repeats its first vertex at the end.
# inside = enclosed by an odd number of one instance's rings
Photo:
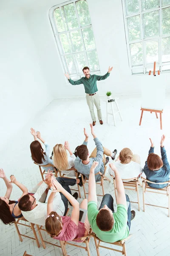
MULTIPOLYGON (((129 206, 127 209, 127 226, 129 227, 130 230, 130 222, 131 222, 131 207, 130 207, 130 200, 128 195, 126 195, 126 201, 129 202, 129 206)), ((110 194, 105 194, 103 199, 102 199, 102 203, 100 204, 99 210, 102 209, 104 207, 104 205, 107 205, 107 207, 109 209, 112 210, 112 212, 114 212, 114 208, 113 208, 113 197, 110 194)))

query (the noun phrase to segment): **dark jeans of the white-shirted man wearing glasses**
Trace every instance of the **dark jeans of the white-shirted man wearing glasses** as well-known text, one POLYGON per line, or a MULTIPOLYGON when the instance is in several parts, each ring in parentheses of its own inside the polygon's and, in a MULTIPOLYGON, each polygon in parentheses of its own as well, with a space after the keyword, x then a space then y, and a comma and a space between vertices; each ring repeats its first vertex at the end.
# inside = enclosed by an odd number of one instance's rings
MULTIPOLYGON (((56 180, 62 185, 62 187, 68 193, 71 194, 71 189, 69 188, 69 186, 74 186, 76 184, 76 179, 57 177, 56 180)), ((61 195, 61 199, 64 203, 64 206, 65 206, 65 212, 64 212, 64 216, 65 216, 67 209, 68 209, 68 199, 61 192, 60 192, 60 195, 61 195)))

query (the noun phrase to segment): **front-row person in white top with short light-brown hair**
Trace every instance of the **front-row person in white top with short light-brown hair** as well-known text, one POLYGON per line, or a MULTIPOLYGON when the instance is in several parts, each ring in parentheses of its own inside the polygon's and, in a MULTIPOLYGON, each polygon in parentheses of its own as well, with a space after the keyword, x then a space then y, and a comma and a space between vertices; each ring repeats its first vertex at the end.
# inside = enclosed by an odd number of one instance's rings
MULTIPOLYGON (((122 179, 130 179, 140 177, 142 167, 140 165, 140 157, 138 154, 133 154, 130 148, 123 148, 116 159, 114 165, 118 169, 122 179)), ((114 176, 114 172, 109 168, 109 174, 114 176)))

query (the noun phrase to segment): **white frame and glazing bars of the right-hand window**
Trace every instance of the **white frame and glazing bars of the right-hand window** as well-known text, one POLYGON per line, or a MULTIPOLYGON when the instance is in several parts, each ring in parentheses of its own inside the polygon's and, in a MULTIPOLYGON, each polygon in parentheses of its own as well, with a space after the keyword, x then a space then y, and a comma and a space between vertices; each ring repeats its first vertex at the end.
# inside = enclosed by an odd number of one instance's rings
POLYGON ((162 62, 162 38, 168 38, 170 37, 170 33, 166 34, 166 35, 162 35, 162 26, 161 26, 161 22, 162 22, 162 10, 169 8, 169 5, 166 6, 162 6, 162 0, 159 0, 159 7, 157 8, 152 8, 152 9, 147 9, 142 11, 142 0, 138 0, 138 4, 139 4, 139 11, 130 15, 127 15, 127 10, 126 10, 126 0, 122 0, 122 9, 123 9, 123 18, 124 18, 124 26, 125 26, 125 37, 126 37, 126 45, 127 45, 127 55, 128 55, 128 62, 129 62, 129 67, 131 69, 131 74, 132 75, 142 75, 142 74, 148 74, 149 72, 147 71, 148 68, 153 69, 153 63, 148 63, 146 61, 147 55, 146 55, 146 43, 147 41, 158 41, 158 57, 159 57, 159 61, 156 62, 156 67, 159 67, 160 72, 163 73, 167 73, 170 72, 169 70, 162 70, 162 67, 166 66, 166 65, 170 65, 170 61, 167 62, 162 62), (159 12, 159 35, 158 36, 152 36, 152 37, 148 37, 148 38, 144 38, 144 14, 145 13, 149 13, 149 12, 154 12, 154 11, 158 11, 159 12), (129 29, 128 29, 128 23, 127 23, 127 19, 129 17, 134 17, 139 15, 140 18, 140 32, 141 32, 141 37, 140 39, 136 39, 136 40, 129 40, 129 29), (132 65, 131 63, 131 52, 130 52, 130 44, 134 44, 134 43, 142 43, 142 54, 143 54, 143 64, 139 64, 139 65, 132 65), (140 67, 142 66, 143 67, 140 67), (139 73, 134 73, 133 70, 137 70, 139 68, 143 68, 143 72, 139 72, 139 73))

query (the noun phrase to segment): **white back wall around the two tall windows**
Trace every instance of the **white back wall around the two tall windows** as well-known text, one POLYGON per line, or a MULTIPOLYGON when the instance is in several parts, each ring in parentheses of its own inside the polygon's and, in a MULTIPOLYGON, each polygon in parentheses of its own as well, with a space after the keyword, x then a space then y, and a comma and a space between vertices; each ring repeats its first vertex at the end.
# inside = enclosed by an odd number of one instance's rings
MULTIPOLYGON (((66 83, 48 18, 49 9, 62 2, 64 1, 36 1, 36 6, 34 3, 31 11, 28 8, 25 10, 26 22, 54 98, 84 96, 82 85, 73 87, 66 83)), ((107 80, 98 82, 99 93, 104 95, 106 90, 111 90, 116 94, 140 94, 143 76, 132 76, 128 66, 122 1, 88 0, 88 5, 101 74, 107 72, 109 65, 114 67, 107 80)), ((170 73, 167 74, 167 92, 170 92, 170 73)))

